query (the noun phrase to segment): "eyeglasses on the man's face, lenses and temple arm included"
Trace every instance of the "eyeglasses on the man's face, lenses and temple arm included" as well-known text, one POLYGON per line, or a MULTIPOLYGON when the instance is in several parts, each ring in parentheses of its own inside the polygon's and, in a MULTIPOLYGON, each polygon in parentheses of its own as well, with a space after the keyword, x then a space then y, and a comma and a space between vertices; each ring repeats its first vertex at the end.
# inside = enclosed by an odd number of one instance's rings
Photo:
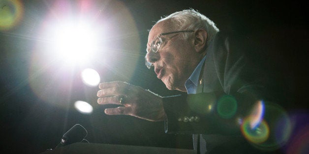
MULTIPOLYGON (((180 32, 194 32, 194 30, 181 30, 181 31, 172 31, 172 32, 167 32, 167 33, 161 33, 160 35, 156 36, 153 41, 150 44, 150 51, 153 51, 154 53, 156 53, 160 47, 161 44, 163 43, 162 39, 160 36, 164 36, 164 35, 168 35, 168 34, 174 34, 174 33, 180 33, 180 32)), ((146 50, 147 53, 149 53, 150 51, 146 50)), ((147 54, 146 54, 147 56, 147 54)), ((145 56, 145 65, 147 66, 148 69, 150 69, 152 66, 154 66, 151 62, 147 61, 147 58, 145 56)))

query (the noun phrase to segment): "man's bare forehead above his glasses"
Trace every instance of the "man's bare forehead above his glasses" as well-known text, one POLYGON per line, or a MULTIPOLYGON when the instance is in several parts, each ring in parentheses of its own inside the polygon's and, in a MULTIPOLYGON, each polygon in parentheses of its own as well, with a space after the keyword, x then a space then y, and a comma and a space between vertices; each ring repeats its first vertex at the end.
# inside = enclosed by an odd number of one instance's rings
POLYGON ((148 43, 161 33, 175 31, 175 26, 170 20, 161 21, 151 28, 148 35, 148 43))

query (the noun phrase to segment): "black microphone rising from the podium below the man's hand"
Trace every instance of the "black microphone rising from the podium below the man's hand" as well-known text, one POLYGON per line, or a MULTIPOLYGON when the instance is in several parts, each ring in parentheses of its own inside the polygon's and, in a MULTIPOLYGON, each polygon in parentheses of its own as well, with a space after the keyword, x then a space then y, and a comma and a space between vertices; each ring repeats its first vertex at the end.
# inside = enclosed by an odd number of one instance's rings
POLYGON ((63 134, 60 143, 56 146, 56 148, 76 142, 85 142, 85 141, 88 142, 85 139, 87 134, 88 134, 87 130, 82 125, 76 124, 72 128, 70 128, 66 133, 63 134))

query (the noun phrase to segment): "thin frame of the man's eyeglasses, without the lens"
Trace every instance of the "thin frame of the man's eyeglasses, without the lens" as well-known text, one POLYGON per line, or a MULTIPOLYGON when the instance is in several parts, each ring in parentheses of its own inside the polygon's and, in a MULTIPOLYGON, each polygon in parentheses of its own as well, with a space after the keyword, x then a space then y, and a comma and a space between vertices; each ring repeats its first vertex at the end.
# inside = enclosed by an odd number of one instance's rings
MULTIPOLYGON (((154 52, 154 53, 156 53, 157 51, 159 51, 159 49, 160 49, 160 47, 161 47, 161 45, 162 45, 162 43, 163 43, 163 41, 162 41, 162 39, 161 39, 160 36, 164 36, 164 35, 168 35, 168 34, 174 34, 174 33, 180 33, 180 32, 194 32, 194 30, 180 30, 180 31, 172 31, 172 32, 161 33, 161 34, 159 34, 158 36, 156 36, 156 37, 151 41, 151 44, 150 44, 150 51, 152 51, 152 52, 154 52), (157 49, 154 50, 152 47, 153 47, 154 41, 155 41, 157 38, 159 39, 160 44, 156 47, 157 49)), ((146 56, 147 56, 147 54, 148 54, 150 51, 148 51, 147 49, 146 49, 146 51, 147 51, 147 53, 146 53, 146 56)), ((152 63, 150 63, 150 62, 147 61, 146 56, 145 56, 145 65, 146 65, 146 67, 147 67, 148 69, 151 69, 151 67, 154 66, 154 65, 153 65, 152 63)))

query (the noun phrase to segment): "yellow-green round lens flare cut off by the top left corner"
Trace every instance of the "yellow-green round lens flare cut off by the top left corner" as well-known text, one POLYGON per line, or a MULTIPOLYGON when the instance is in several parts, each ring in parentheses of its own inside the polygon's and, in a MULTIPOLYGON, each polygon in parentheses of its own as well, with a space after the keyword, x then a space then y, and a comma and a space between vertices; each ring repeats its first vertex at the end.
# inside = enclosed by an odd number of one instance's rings
POLYGON ((0 30, 16 26, 24 13, 20 0, 0 0, 0 30))

